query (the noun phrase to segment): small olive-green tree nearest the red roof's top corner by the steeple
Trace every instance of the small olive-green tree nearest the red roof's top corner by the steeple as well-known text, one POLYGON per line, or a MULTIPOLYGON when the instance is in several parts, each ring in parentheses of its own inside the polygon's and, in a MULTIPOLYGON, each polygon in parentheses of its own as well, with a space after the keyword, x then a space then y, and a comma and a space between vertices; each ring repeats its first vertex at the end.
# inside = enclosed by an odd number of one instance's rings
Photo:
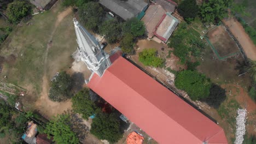
POLYGON ((125 34, 120 43, 122 51, 124 53, 132 55, 133 53, 135 53, 133 45, 133 35, 130 33, 125 34))

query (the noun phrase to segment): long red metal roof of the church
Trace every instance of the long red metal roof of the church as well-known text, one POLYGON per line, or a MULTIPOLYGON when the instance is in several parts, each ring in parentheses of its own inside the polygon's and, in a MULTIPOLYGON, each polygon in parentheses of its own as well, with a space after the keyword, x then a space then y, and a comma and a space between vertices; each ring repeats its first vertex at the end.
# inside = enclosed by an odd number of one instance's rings
POLYGON ((121 56, 88 86, 159 143, 228 143, 216 123, 121 56))

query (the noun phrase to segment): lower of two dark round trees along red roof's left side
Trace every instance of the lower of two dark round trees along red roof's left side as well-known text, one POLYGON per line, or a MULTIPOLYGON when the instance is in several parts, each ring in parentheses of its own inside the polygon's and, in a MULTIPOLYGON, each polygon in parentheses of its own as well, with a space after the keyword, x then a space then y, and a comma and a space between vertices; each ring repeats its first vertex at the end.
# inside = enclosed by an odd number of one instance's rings
POLYGON ((120 119, 114 113, 108 114, 98 110, 92 120, 90 132, 98 139, 107 140, 110 143, 117 142, 122 137, 120 119))

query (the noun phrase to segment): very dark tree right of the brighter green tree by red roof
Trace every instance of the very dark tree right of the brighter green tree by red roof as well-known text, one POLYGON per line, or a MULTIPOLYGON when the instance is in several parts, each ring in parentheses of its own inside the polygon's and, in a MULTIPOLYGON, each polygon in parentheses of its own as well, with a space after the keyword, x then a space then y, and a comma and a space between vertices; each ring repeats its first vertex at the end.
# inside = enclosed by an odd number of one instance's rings
POLYGON ((222 87, 213 84, 210 89, 210 95, 205 99, 206 103, 218 109, 220 104, 226 99, 226 91, 222 87))

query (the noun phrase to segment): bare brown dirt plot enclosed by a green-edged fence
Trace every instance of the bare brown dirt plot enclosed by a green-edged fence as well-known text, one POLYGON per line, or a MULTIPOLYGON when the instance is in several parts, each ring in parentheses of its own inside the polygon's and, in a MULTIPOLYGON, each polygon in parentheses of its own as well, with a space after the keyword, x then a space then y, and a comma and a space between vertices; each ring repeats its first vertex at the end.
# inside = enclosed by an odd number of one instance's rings
POLYGON ((217 26, 216 28, 208 32, 207 35, 212 45, 219 53, 220 57, 225 57, 230 55, 231 53, 239 51, 235 41, 232 40, 232 38, 230 37, 228 32, 225 31, 223 26, 217 26))

